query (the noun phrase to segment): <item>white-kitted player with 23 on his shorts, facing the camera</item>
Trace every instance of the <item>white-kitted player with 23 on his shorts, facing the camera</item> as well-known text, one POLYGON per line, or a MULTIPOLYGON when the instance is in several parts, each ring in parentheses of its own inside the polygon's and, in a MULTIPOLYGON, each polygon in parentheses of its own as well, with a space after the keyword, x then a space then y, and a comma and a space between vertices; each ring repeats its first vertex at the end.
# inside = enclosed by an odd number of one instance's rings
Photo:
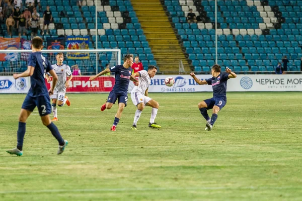
MULTIPOLYGON (((69 81, 72 79, 72 73, 70 70, 70 67, 66 64, 63 64, 64 55, 63 53, 58 53, 56 55, 57 63, 53 64, 51 67, 55 71, 55 73, 58 76, 58 81, 55 85, 55 88, 53 90, 53 94, 50 95, 50 98, 52 99, 52 112, 53 112, 53 119, 52 121, 58 121, 57 118, 57 108, 56 104, 58 104, 59 107, 62 107, 67 104, 67 106, 70 106, 70 101, 67 96, 65 96, 66 88, 69 88, 69 81), (66 80, 66 77, 69 77, 66 80), (58 100, 58 102, 57 102, 58 100)), ((49 77, 50 74, 46 74, 47 81, 50 82, 51 78, 49 77)))

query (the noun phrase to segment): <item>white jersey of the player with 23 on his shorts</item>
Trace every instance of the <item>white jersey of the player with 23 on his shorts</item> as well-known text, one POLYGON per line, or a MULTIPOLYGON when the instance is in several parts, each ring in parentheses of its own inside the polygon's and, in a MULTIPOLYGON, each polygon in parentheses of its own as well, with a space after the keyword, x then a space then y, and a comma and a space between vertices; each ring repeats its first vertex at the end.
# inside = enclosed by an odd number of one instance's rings
MULTIPOLYGON (((61 66, 53 64, 51 65, 51 67, 58 76, 58 81, 54 87, 54 91, 65 91, 66 76, 70 76, 72 74, 70 67, 66 64, 63 64, 61 66)), ((49 73, 47 74, 50 75, 49 73)))

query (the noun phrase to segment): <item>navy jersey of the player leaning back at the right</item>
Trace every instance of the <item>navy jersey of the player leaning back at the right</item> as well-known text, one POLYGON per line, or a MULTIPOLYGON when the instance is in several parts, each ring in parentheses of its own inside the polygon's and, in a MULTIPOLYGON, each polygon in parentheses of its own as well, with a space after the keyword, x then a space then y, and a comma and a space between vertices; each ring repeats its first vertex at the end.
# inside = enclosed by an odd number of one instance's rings
POLYGON ((205 79, 205 81, 212 85, 213 97, 222 97, 226 100, 226 83, 229 79, 229 73, 220 73, 217 77, 205 79))

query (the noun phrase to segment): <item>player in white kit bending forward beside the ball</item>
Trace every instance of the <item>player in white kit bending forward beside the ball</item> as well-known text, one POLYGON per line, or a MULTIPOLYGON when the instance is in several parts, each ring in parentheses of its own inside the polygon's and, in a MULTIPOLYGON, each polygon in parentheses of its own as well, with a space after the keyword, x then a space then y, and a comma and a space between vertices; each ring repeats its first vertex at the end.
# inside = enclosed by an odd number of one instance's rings
POLYGON ((131 127, 132 130, 137 130, 136 123, 145 106, 152 107, 149 127, 162 128, 160 125, 154 122, 160 105, 154 99, 148 97, 148 87, 151 83, 151 78, 155 76, 157 69, 158 68, 156 66, 150 65, 148 67, 148 71, 141 70, 131 75, 133 78, 138 77, 138 81, 139 81, 138 86, 134 86, 134 88, 131 91, 132 103, 137 107, 134 116, 133 125, 131 127))

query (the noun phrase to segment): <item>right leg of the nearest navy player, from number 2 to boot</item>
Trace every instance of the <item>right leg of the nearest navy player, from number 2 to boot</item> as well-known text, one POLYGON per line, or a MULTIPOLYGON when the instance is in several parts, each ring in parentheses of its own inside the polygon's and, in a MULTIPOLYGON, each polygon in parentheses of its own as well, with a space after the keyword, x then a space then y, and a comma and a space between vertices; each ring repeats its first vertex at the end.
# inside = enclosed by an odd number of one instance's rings
POLYGON ((55 124, 50 120, 49 114, 51 113, 49 98, 47 96, 38 96, 36 99, 36 105, 38 107, 38 111, 44 126, 46 126, 51 134, 57 139, 59 143, 59 150, 57 154, 61 154, 65 146, 67 146, 68 142, 63 140, 58 128, 55 124))

